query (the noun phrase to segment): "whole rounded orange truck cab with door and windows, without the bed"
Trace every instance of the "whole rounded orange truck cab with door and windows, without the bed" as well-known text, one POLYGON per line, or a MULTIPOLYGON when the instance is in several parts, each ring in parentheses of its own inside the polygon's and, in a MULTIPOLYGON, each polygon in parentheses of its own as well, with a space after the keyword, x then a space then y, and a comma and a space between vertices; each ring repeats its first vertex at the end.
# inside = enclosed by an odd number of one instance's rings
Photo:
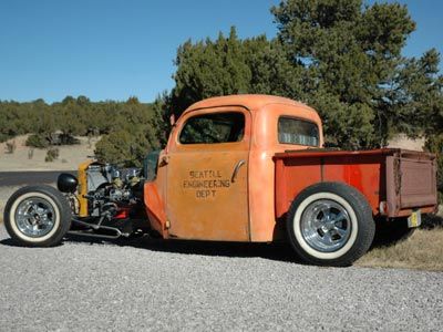
POLYGON ((174 125, 157 177, 145 184, 153 227, 165 238, 272 241, 277 236, 272 157, 322 144, 320 117, 305 104, 267 95, 198 102, 174 125), (188 132, 200 124, 213 126, 188 139, 188 132), (302 132, 285 132, 291 128, 302 132), (212 137, 213 132, 219 136, 212 137))

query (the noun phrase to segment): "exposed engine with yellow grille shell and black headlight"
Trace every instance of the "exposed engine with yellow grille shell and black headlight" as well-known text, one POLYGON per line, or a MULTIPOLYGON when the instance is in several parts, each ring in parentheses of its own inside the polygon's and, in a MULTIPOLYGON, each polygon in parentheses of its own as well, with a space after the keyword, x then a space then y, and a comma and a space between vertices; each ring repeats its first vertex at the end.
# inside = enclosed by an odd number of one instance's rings
POLYGON ((155 236, 146 222, 143 189, 155 176, 158 152, 152 152, 143 169, 87 160, 79 166, 78 177, 61 174, 56 185, 71 205, 70 234, 111 239, 155 236))

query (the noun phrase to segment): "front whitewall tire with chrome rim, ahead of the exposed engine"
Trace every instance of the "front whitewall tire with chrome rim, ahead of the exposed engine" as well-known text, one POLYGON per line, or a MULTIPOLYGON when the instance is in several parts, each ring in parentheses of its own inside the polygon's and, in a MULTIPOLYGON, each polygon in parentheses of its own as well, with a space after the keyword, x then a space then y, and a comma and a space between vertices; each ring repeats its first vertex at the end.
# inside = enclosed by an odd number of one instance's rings
POLYGON ((28 186, 17 190, 4 207, 4 226, 21 246, 51 247, 60 243, 71 227, 71 207, 50 186, 28 186))

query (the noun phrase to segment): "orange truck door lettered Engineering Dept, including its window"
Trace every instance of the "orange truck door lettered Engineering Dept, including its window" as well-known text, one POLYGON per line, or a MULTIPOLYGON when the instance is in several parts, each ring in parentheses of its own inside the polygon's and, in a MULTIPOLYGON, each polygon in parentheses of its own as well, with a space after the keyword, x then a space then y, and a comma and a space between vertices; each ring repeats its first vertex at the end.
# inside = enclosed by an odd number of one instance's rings
POLYGON ((177 128, 167 162, 169 237, 248 241, 249 112, 194 111, 177 128))

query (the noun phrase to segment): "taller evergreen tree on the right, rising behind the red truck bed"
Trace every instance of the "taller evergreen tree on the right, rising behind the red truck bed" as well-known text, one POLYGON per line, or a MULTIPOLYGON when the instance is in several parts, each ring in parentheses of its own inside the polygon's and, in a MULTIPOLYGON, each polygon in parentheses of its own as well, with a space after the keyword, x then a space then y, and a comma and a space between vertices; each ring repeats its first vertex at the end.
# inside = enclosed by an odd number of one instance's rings
POLYGON ((307 101, 322 115, 329 143, 375 147, 399 132, 426 132, 425 120, 439 113, 429 98, 442 94, 439 55, 401 55, 415 29, 405 6, 287 0, 271 11, 292 62, 310 73, 307 101))

